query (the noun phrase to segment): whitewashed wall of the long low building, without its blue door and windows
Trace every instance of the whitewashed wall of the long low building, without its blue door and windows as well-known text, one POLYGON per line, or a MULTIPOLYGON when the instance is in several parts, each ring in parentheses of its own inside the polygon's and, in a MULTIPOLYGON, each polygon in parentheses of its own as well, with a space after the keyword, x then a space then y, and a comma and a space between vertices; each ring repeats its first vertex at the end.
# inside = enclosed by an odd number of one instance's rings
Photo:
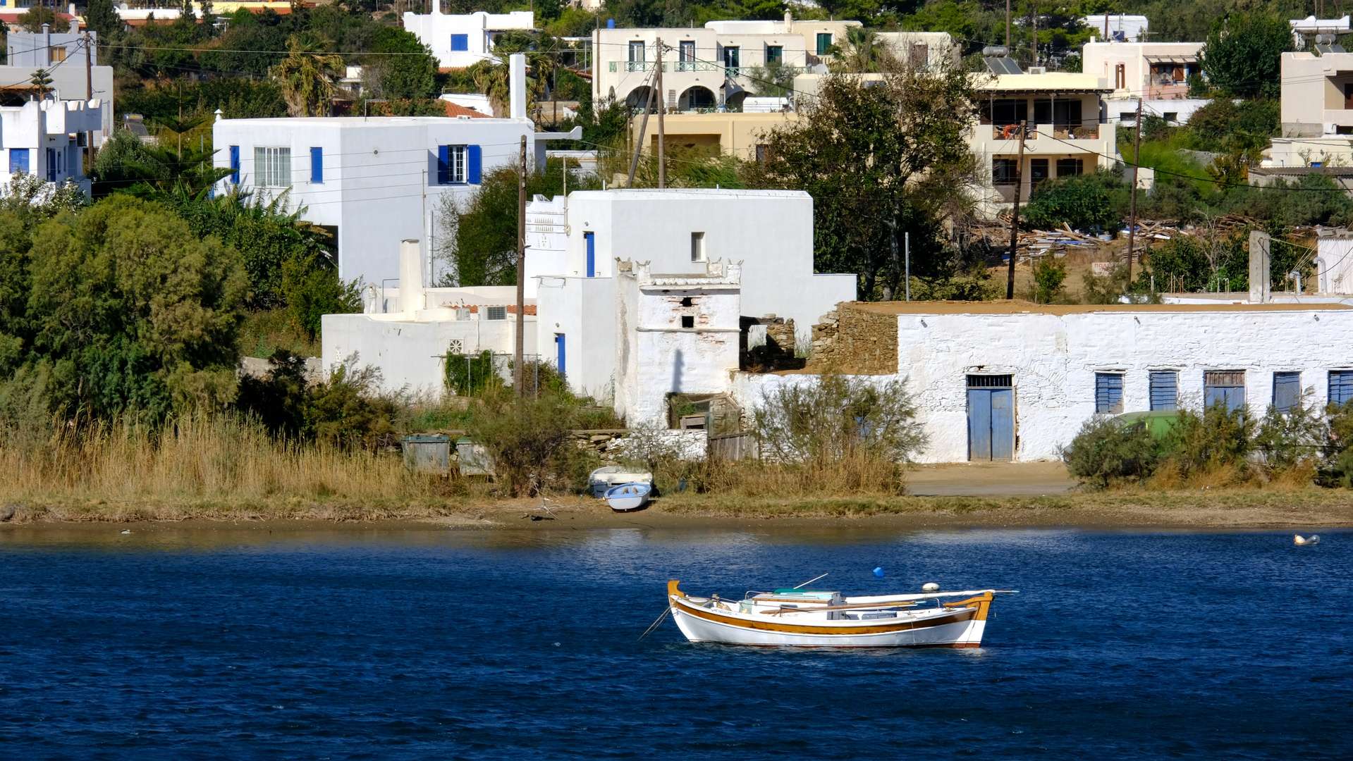
MULTIPOLYGON (((1275 372, 1300 372, 1314 401, 1329 397, 1329 370, 1353 368, 1353 310, 1338 305, 1123 307, 1030 312, 897 315, 897 376, 916 395, 930 437, 925 462, 967 458, 966 374, 1013 374, 1019 461, 1057 460, 1095 415, 1095 373, 1123 373, 1123 410, 1150 408, 1150 370, 1178 373, 1180 404, 1199 408, 1206 370, 1245 370, 1246 404, 1262 415, 1275 372), (1053 314, 1057 312, 1057 314, 1053 314)), ((809 376, 739 374, 747 408, 762 389, 809 376)), ((886 377, 886 376, 882 376, 886 377)))

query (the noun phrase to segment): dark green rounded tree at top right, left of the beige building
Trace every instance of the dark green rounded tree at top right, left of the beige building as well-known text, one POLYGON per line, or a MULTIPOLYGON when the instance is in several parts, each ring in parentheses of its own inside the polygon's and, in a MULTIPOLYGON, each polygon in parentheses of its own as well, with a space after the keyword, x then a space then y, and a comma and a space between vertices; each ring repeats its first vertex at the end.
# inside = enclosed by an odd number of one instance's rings
POLYGON ((1292 28, 1283 19, 1234 14, 1222 19, 1199 51, 1203 70, 1223 95, 1277 97, 1280 57, 1292 50, 1292 28))

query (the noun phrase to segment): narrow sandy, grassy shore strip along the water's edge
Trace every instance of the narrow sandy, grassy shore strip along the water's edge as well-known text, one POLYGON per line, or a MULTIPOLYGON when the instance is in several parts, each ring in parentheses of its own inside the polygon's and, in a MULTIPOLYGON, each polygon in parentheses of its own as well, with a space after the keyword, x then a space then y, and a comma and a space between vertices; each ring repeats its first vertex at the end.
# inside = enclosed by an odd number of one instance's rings
POLYGON ((20 512, 0 523, 0 534, 55 527, 112 526, 135 531, 188 526, 313 530, 352 527, 469 531, 557 531, 595 529, 756 530, 877 527, 924 530, 958 527, 1085 529, 1334 529, 1353 527, 1353 493, 1327 489, 1257 489, 1196 493, 1091 493, 1039 497, 854 497, 831 500, 735 500, 678 495, 648 508, 617 514, 601 500, 564 497, 497 500, 478 504, 419 503, 346 506, 55 506, 20 512))

